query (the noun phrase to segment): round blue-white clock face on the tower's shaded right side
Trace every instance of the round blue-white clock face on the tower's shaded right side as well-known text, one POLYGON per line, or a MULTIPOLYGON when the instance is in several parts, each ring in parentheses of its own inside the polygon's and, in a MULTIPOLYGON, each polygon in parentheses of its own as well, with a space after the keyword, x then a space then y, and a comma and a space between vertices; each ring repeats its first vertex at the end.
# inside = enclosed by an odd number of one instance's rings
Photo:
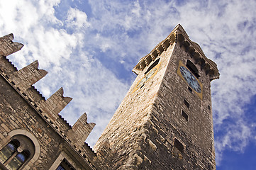
POLYGON ((179 67, 180 72, 182 73, 182 77, 187 81, 189 86, 191 86, 194 91, 197 93, 201 93, 201 86, 199 84, 199 81, 197 81, 196 77, 187 69, 186 67, 179 67))

